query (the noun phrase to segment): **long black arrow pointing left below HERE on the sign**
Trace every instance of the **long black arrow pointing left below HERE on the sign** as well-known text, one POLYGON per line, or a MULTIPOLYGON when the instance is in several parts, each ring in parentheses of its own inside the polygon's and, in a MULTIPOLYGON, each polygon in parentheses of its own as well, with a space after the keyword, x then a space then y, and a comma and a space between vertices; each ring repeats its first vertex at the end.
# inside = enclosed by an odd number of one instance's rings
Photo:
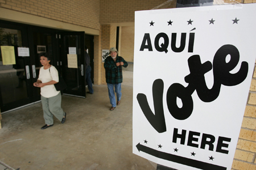
POLYGON ((157 158, 169 160, 171 162, 175 162, 175 163, 179 163, 179 164, 183 164, 183 165, 187 165, 189 167, 194 167, 194 168, 199 168, 199 169, 204 169, 204 170, 216 170, 216 169, 226 170, 226 167, 221 167, 219 165, 213 165, 213 164, 201 162, 198 160, 193 160, 193 159, 184 158, 184 157, 177 156, 177 155, 168 154, 166 152, 157 151, 150 147, 143 146, 143 145, 141 145, 141 143, 138 143, 138 145, 136 145, 136 147, 139 150, 139 152, 142 151, 142 152, 145 152, 152 156, 155 156, 157 158))

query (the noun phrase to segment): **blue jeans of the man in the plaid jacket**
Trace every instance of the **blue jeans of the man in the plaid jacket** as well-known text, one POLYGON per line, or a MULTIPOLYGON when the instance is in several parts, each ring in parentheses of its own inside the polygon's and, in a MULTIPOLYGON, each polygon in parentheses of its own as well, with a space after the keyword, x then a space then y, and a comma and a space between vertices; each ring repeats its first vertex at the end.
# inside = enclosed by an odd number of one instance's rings
POLYGON ((117 93, 117 101, 121 100, 122 92, 121 92, 121 83, 118 84, 108 84, 108 90, 109 90, 109 99, 110 104, 112 104, 112 107, 117 107, 117 102, 115 101, 115 92, 117 93), (115 87, 115 91, 114 91, 115 87))

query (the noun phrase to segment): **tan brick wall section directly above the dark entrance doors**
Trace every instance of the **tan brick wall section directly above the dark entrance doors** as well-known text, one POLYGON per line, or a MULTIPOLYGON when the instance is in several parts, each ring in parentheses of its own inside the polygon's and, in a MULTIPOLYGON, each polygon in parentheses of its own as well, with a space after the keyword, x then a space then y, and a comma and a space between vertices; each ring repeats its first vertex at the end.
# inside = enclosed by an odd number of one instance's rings
POLYGON ((100 0, 0 0, 0 7, 100 29, 100 0))

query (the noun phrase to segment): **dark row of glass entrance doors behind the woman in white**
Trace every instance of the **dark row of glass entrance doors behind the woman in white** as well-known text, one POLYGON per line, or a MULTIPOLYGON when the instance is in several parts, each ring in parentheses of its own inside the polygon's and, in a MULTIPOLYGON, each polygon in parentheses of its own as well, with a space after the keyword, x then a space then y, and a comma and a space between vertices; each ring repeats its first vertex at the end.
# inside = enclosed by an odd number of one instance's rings
MULTIPOLYGON (((3 49, 14 48, 13 63, 7 63, 9 54, 0 53, 0 109, 2 113, 40 101, 40 88, 33 86, 41 67, 38 54, 47 52, 51 64, 63 76, 68 88, 64 94, 86 97, 84 46, 93 49, 93 36, 84 32, 35 27, 0 20, 0 44, 3 49), (85 38, 86 37, 86 38, 85 38), (89 38, 88 38, 89 37, 89 38), (18 47, 29 49, 28 56, 19 56, 18 47), (70 67, 68 54, 76 52, 77 67, 70 67)), ((72 55, 71 55, 72 56, 72 55)), ((72 56, 74 57, 74 55, 72 56)), ((90 52, 93 66, 93 53, 90 52)), ((93 72, 92 72, 93 80, 93 72)))

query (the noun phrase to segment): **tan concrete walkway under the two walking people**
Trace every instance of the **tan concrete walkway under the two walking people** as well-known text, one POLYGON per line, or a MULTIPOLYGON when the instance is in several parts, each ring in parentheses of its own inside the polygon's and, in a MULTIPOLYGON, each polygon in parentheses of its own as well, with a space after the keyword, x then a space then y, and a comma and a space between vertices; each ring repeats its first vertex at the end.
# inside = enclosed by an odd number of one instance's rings
POLYGON ((45 130, 40 129, 41 103, 3 114, 0 160, 20 170, 155 170, 156 164, 132 151, 132 85, 122 85, 121 104, 114 111, 109 110, 107 86, 93 88, 86 99, 63 95, 66 122, 55 118, 45 130))

